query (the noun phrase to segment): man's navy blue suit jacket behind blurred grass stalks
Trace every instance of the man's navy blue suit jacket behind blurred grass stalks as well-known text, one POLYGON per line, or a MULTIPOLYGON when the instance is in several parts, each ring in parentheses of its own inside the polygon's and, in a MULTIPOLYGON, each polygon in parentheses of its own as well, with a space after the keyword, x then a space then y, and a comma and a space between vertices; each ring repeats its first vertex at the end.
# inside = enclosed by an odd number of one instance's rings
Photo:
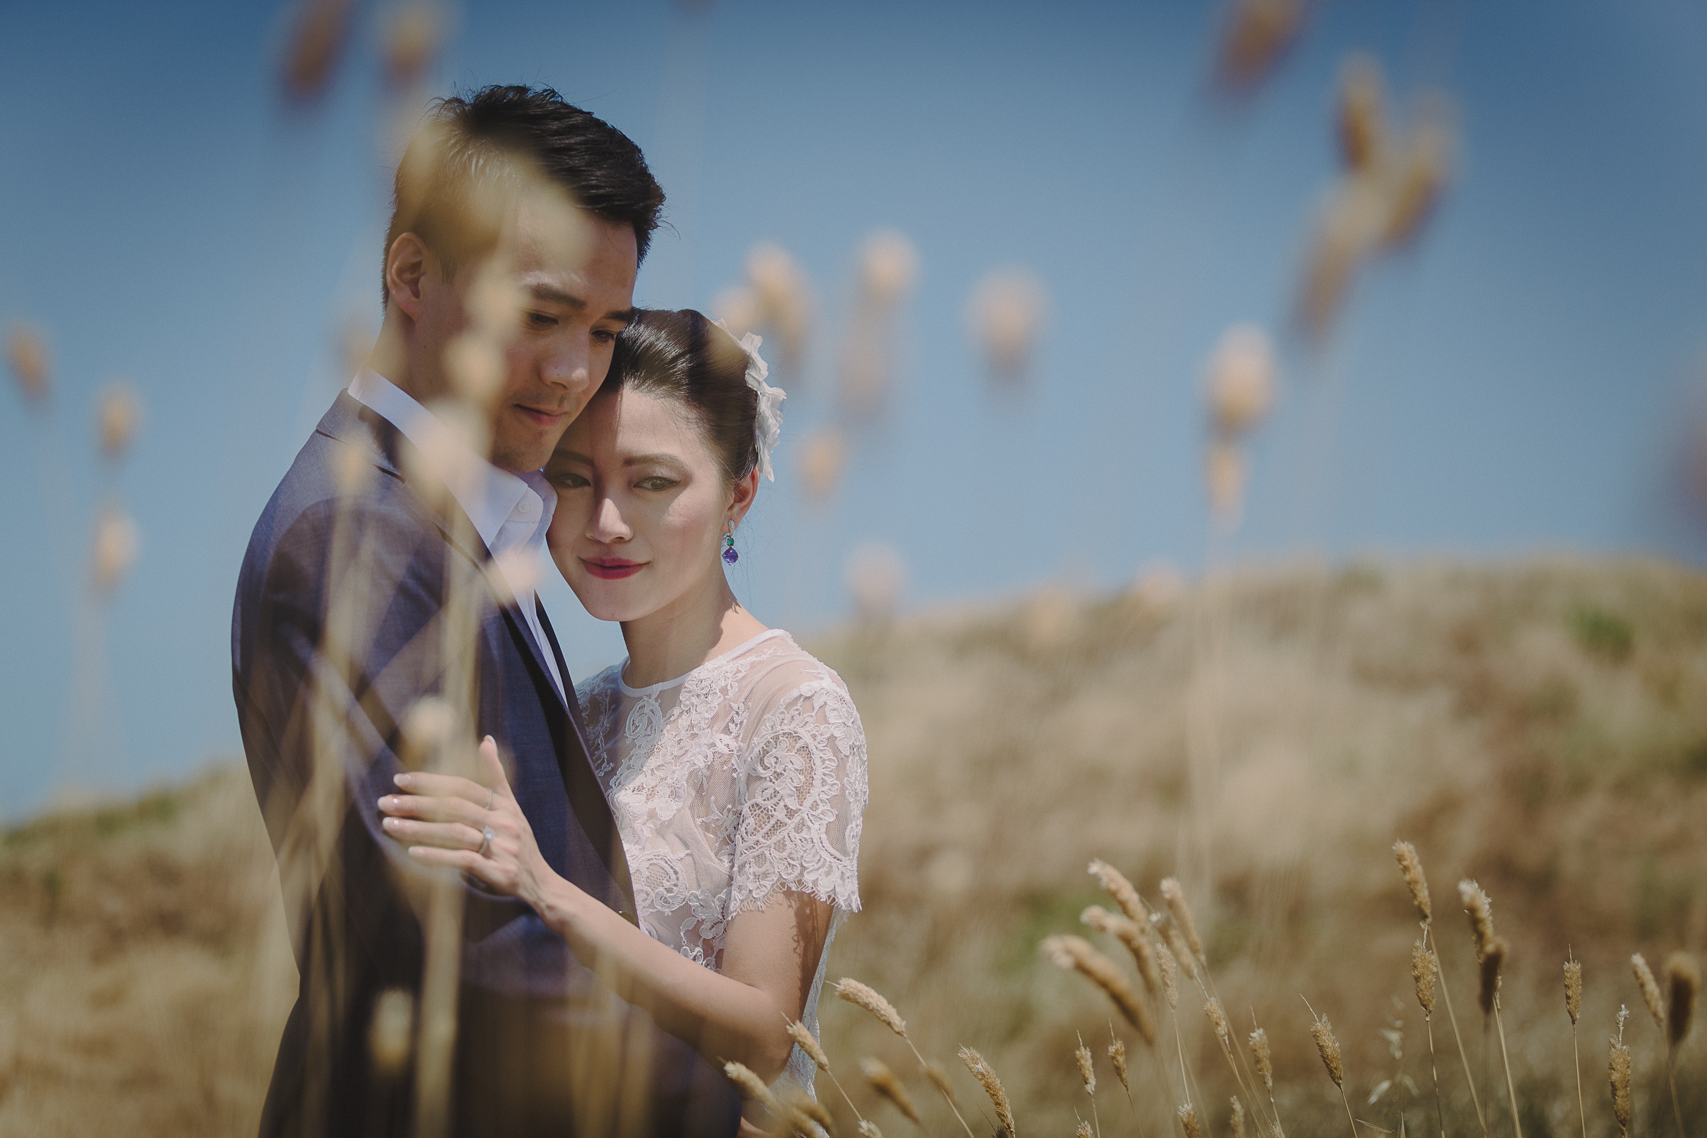
MULTIPOLYGON (((340 394, 256 522, 237 582, 232 691, 300 971, 263 1138, 413 1133, 413 1065, 376 1063, 370 1024, 384 991, 422 991, 428 875, 376 805, 411 756, 405 725, 422 698, 498 740, 545 860, 633 920, 556 638, 543 621, 551 643, 534 642, 468 517, 413 456, 340 394)), ((524 903, 475 884, 457 1020, 452 1133, 737 1126, 739 1100, 710 1065, 524 903)))

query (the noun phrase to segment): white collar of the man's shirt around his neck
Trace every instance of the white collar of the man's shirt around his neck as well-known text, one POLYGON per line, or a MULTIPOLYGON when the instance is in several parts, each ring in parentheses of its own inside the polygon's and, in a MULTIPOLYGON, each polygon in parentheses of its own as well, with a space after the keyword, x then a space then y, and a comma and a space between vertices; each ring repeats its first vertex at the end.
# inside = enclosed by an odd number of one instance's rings
MULTIPOLYGON (((376 411, 387 423, 396 427, 405 438, 420 450, 437 450, 444 447, 446 435, 452 432, 446 423, 423 408, 415 396, 403 391, 379 372, 364 367, 350 380, 350 396, 362 406, 376 411)), ((452 444, 461 445, 461 444, 452 444)), ((533 544, 545 534, 556 507, 556 495, 551 483, 539 471, 512 474, 500 471, 485 457, 476 456, 468 447, 461 447, 466 462, 447 462, 444 485, 456 498, 456 503, 468 514, 475 532, 486 543, 493 554, 514 544, 533 544), (531 498, 531 502, 529 502, 531 498), (522 512, 517 515, 517 507, 522 512), (533 529, 519 534, 521 541, 498 541, 505 522, 533 522, 533 529)))

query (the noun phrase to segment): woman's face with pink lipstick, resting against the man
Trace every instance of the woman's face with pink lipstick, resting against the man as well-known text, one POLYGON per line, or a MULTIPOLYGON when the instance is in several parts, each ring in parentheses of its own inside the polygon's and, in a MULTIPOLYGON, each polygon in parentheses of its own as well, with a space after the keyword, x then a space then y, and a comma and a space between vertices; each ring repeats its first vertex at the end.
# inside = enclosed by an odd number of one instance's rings
POLYGON ((601 621, 719 585, 724 522, 741 520, 754 483, 725 481, 686 406, 630 389, 596 396, 545 474, 556 488, 551 558, 601 621))

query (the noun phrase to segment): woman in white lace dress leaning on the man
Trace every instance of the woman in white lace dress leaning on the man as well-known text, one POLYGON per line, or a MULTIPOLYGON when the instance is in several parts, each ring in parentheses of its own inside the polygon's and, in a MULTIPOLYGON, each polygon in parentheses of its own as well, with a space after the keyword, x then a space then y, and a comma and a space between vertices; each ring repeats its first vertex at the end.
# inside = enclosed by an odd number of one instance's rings
POLYGON ((399 775, 382 809, 413 856, 527 901, 707 1058, 811 1094, 787 1024, 816 1034, 830 940, 859 909, 865 737, 842 679, 724 577, 773 478, 782 392, 758 343, 698 312, 640 312, 546 466, 551 556, 628 648, 575 694, 640 928, 545 865, 490 739, 486 785, 399 775), (468 824, 420 821, 449 819, 446 798, 468 824))

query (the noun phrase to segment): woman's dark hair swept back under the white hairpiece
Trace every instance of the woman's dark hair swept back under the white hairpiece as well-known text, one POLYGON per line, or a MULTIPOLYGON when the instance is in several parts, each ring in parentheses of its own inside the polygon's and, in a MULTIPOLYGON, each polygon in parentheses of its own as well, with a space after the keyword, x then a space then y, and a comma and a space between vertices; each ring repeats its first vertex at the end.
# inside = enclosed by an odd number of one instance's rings
POLYGON ((685 404, 724 474, 739 481, 758 466, 758 392, 746 365, 736 338, 693 309, 640 309, 616 338, 599 394, 626 387, 685 404))

